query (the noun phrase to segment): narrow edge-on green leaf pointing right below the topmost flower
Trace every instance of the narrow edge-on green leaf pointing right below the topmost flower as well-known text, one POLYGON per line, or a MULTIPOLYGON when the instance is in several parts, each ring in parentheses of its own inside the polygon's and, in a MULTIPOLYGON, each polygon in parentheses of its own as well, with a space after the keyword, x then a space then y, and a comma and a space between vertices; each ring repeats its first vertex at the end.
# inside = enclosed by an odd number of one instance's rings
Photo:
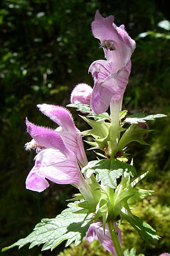
POLYGON ((138 122, 146 122, 146 120, 154 120, 155 118, 166 117, 164 114, 155 114, 147 116, 145 113, 135 113, 131 116, 128 116, 125 119, 125 122, 129 124, 137 124, 138 122))

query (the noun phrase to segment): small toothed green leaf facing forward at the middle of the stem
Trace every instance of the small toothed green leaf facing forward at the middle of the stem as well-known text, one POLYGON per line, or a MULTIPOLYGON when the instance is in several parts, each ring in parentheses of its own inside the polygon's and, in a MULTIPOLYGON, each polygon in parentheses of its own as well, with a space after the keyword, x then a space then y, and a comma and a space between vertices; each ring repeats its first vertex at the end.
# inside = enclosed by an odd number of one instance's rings
POLYGON ((92 173, 96 173, 96 181, 102 181, 103 185, 107 185, 112 189, 115 189, 117 186, 117 178, 126 173, 130 173, 132 177, 136 174, 135 167, 128 163, 122 163, 117 159, 91 161, 82 169, 82 172, 85 171, 88 177, 90 177, 92 173))

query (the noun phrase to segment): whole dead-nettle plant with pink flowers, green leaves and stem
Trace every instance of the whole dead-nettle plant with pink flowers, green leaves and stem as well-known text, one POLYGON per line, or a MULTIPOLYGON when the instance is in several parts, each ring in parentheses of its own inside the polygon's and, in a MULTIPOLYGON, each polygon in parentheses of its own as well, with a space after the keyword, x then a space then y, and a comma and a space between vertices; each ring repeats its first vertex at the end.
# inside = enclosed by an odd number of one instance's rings
MULTIPOLYGON (((42 250, 53 250, 62 241, 66 246, 83 237, 90 243, 99 240, 113 255, 127 255, 122 251, 121 224, 129 222, 146 244, 156 242, 159 236, 149 224, 133 215, 131 205, 137 200, 154 195, 154 191, 135 188, 147 175, 138 175, 133 160, 129 161, 128 145, 137 141, 147 145, 144 135, 151 130, 146 121, 164 114, 135 113, 127 116, 122 111, 122 98, 131 70, 131 55, 135 41, 113 23, 113 16, 102 17, 96 12, 92 32, 100 41, 106 60, 94 61, 89 72, 94 78, 93 89, 78 84, 71 93, 71 104, 80 117, 92 127, 79 131, 71 113, 57 105, 37 105, 59 127, 56 130, 34 125, 26 119, 27 131, 32 140, 26 150, 37 152, 35 165, 26 178, 26 188, 42 192, 48 180, 57 184, 71 184, 79 193, 70 199, 68 208, 56 218, 42 219, 33 232, 3 251, 30 243, 43 244, 42 250), (110 107, 110 115, 106 112, 110 107), (96 160, 88 162, 82 136, 91 136, 86 143, 95 149, 96 160), (99 152, 100 151, 100 152, 99 152)), ((88 137, 89 138, 89 137, 88 137)), ((130 254, 131 255, 131 254, 130 254)))

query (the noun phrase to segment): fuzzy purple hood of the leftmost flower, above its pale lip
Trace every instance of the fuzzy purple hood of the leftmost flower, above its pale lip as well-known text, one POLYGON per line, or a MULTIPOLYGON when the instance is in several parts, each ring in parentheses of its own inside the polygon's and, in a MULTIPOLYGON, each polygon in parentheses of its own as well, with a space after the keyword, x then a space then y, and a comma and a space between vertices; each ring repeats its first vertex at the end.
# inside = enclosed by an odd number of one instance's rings
POLYGON ((62 137, 56 131, 42 126, 34 125, 26 118, 27 132, 42 147, 59 149, 63 153, 69 152, 62 137))

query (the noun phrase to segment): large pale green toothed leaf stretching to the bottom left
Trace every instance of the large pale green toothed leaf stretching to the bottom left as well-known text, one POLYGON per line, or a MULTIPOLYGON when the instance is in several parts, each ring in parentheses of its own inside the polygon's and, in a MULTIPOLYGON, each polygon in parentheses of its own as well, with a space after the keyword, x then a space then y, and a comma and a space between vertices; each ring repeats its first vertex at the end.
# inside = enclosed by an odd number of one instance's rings
POLYGON ((74 203, 68 204, 67 209, 62 211, 61 214, 57 215, 56 218, 42 219, 38 223, 34 231, 29 234, 26 238, 18 240, 11 246, 3 248, 2 251, 8 250, 14 246, 19 246, 19 249, 25 244, 30 243, 29 248, 35 245, 44 244, 42 250, 53 250, 62 241, 68 240, 66 246, 75 241, 75 246, 78 245, 89 227, 89 224, 84 223, 86 214, 75 213, 81 209, 76 207, 74 203))

